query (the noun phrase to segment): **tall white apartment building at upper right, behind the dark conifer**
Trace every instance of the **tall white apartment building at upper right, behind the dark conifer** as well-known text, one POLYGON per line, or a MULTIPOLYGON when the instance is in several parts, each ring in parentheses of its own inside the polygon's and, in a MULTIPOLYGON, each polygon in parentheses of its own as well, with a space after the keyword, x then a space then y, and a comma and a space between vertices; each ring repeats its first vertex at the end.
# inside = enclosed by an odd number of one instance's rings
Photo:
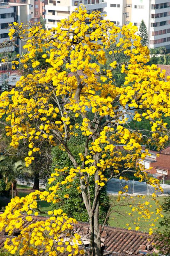
POLYGON ((106 0, 105 19, 122 26, 132 22, 140 26, 144 20, 149 34, 149 48, 170 48, 170 1, 106 0))

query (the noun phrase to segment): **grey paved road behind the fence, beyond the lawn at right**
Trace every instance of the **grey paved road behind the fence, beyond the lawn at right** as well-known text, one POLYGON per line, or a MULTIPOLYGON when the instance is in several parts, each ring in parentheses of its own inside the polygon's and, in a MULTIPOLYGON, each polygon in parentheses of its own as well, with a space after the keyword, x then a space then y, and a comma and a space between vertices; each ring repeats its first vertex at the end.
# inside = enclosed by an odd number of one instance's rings
MULTIPOLYGON (((152 194, 155 189, 153 187, 150 187, 146 185, 140 185, 140 184, 128 184, 128 182, 123 182, 121 181, 121 185, 120 185, 120 182, 119 181, 109 181, 108 184, 107 184, 107 191, 109 193, 113 193, 113 194, 116 194, 118 193, 118 191, 123 190, 122 187, 124 187, 125 185, 128 185, 128 194, 133 194, 133 189, 134 189, 134 193, 136 194, 152 194)), ((164 188, 164 194, 168 194, 168 192, 170 193, 170 189, 167 189, 167 188, 164 188)), ((160 192, 155 192, 157 195, 160 195, 161 193, 160 192)))

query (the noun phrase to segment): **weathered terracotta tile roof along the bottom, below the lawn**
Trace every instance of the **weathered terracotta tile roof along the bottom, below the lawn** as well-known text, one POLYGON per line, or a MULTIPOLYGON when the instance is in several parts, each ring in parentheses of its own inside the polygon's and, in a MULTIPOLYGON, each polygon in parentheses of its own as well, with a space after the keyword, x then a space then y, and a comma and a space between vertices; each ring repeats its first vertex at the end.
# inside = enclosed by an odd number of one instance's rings
MULTIPOLYGON (((45 220, 48 217, 43 216, 32 216, 33 220, 31 222, 25 221, 24 227, 27 227, 31 223, 36 221, 45 220)), ((78 222, 74 225, 74 232, 81 235, 82 240, 89 241, 90 239, 90 230, 89 223, 78 222)), ((14 236, 19 235, 19 230, 14 231, 14 236)), ((0 235, 0 247, 3 246, 4 240, 6 239, 5 234, 0 235)), ((127 230, 124 228, 114 228, 110 226, 105 226, 101 234, 101 242, 104 245, 104 250, 112 253, 113 256, 120 255, 136 255, 142 251, 153 252, 153 243, 159 244, 158 241, 154 240, 153 236, 150 236, 148 233, 127 230), (150 247, 150 248, 149 248, 150 247)), ((88 243, 87 243, 88 244, 88 243)))

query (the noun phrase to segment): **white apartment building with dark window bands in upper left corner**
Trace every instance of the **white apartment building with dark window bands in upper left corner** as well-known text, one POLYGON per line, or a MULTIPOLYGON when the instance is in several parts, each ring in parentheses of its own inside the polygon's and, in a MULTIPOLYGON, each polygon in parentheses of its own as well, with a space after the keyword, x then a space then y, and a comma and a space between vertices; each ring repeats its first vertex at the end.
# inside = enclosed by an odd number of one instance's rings
POLYGON ((14 21, 27 23, 29 21, 29 5, 28 4, 16 4, 16 3, 4 3, 0 2, 0 53, 4 51, 16 51, 21 53, 23 51, 22 46, 25 44, 22 41, 16 42, 18 47, 2 47, 4 42, 10 41, 8 36, 8 25, 14 21))

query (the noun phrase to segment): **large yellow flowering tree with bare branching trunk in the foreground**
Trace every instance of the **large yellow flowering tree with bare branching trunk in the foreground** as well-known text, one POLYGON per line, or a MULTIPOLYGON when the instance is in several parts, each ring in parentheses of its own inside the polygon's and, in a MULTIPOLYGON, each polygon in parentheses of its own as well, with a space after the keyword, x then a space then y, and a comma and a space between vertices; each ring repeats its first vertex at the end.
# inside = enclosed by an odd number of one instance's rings
MULTIPOLYGON (((57 190, 63 185, 69 186, 78 178, 80 187, 77 189, 81 191, 89 215, 90 255, 101 256, 102 228, 98 222, 101 188, 111 178, 121 179, 125 172, 131 170, 136 170, 135 175, 141 180, 159 187, 158 181, 145 174, 142 164, 137 161, 144 159, 148 151, 142 153, 143 135, 140 130, 129 128, 128 121, 141 122, 142 117, 149 119, 151 131, 148 140, 158 148, 163 147, 168 140, 162 117, 169 115, 169 77, 165 80, 164 71, 161 72, 156 65, 147 65, 149 50, 142 46, 141 38, 135 34, 137 27, 131 23, 122 28, 116 27, 112 22, 102 20, 99 12, 88 14, 80 8, 50 31, 44 30, 41 25, 31 28, 23 24, 14 25, 9 33, 11 40, 16 36, 26 40, 24 48, 27 52, 20 56, 25 75, 11 92, 1 94, 0 117, 6 116, 6 132, 12 138, 13 147, 18 147, 22 140, 28 141, 27 166, 35 159, 35 152, 40 152, 37 145, 42 145, 43 141, 49 141, 52 146, 59 144, 66 151, 73 167, 56 168, 49 179, 49 192, 40 193, 40 200, 58 202, 57 190), (112 49, 109 52, 112 61, 105 69, 105 50, 109 48, 112 49), (41 66, 36 59, 37 53, 42 53, 47 66, 41 66), (119 63, 119 54, 124 54, 128 62, 119 63), (27 65, 30 61, 32 67, 27 65), (117 67, 121 67, 121 72, 126 75, 121 86, 114 81, 113 71, 117 67), (89 111, 92 112, 91 118, 89 111), (79 164, 68 147, 69 138, 77 136, 76 129, 80 129, 85 137, 79 164), (116 151, 116 144, 123 144, 127 153, 116 151), (65 173, 65 180, 54 185, 56 177, 65 173), (92 198, 89 180, 93 180, 95 185, 92 198)), ((31 196, 26 197, 24 202, 32 211, 31 196)), ((69 194, 66 194, 63 200, 68 197, 69 194)), ((21 210, 24 207, 22 202, 17 204, 16 210, 15 200, 21 199, 13 199, 13 205, 3 214, 2 228, 5 227, 6 231, 15 227, 13 220, 17 214, 21 222, 21 214, 30 213, 28 208, 21 210)), ((141 216, 151 218, 148 204, 133 208, 134 211, 139 213, 139 219, 141 216)), ((51 222, 47 226, 50 225, 51 222)), ((31 226, 29 232, 23 231, 26 235, 21 232, 20 239, 33 234, 34 229, 31 226)), ((56 234, 57 231, 51 232, 56 234)), ((52 239, 56 239, 55 236, 52 239)), ((30 245, 27 246, 30 250, 30 245)), ((77 251, 73 253, 76 255, 77 251)))

